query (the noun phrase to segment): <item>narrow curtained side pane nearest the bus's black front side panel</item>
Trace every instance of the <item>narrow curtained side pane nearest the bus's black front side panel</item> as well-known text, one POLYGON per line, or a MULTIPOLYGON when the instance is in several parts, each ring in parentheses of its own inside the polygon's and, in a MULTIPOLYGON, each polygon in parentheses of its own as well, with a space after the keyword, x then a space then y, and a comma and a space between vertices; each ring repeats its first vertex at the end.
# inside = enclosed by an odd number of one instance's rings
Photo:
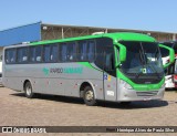
POLYGON ((94 41, 88 41, 88 50, 87 50, 87 56, 88 61, 93 62, 95 59, 95 42, 94 41))

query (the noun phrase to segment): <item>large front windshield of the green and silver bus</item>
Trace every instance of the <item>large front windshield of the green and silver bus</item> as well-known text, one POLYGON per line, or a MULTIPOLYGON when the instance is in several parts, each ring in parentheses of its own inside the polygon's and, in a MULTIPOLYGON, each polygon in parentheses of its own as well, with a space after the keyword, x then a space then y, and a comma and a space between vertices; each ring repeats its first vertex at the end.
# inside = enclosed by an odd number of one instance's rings
POLYGON ((163 74, 164 67, 157 43, 122 41, 126 46, 126 61, 121 70, 126 74, 163 74))

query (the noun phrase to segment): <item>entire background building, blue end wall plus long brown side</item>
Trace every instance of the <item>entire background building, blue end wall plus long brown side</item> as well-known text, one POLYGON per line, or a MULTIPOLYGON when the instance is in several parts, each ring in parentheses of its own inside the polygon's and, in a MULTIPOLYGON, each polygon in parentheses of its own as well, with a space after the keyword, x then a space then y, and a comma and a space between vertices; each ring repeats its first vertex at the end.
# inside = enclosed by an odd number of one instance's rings
MULTIPOLYGON (((138 32, 138 33, 149 34, 154 36, 157 41, 177 40, 177 33, 171 33, 171 32, 111 29, 111 28, 81 27, 81 25, 62 25, 62 24, 48 24, 48 23, 37 22, 0 31, 0 55, 2 55, 3 46, 11 44, 88 35, 94 32, 105 32, 105 33, 138 32)), ((0 66, 0 72, 1 72, 1 66, 0 66)))

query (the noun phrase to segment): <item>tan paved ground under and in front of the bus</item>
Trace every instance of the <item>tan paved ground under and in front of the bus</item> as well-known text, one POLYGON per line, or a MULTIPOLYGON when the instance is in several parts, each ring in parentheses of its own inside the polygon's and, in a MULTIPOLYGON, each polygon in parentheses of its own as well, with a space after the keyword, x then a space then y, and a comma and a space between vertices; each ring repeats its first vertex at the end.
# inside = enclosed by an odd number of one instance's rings
POLYGON ((0 87, 0 126, 8 125, 176 126, 177 93, 167 91, 164 101, 134 102, 128 106, 103 102, 86 106, 79 98, 39 95, 29 100, 23 93, 0 87))

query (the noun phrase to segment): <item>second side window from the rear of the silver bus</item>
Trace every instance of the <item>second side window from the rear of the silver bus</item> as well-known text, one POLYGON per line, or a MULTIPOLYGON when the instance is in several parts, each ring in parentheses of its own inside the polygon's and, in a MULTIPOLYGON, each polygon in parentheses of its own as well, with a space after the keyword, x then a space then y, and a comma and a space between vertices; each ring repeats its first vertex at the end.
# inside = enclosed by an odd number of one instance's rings
POLYGON ((18 63, 28 62, 28 48, 18 49, 18 63))

